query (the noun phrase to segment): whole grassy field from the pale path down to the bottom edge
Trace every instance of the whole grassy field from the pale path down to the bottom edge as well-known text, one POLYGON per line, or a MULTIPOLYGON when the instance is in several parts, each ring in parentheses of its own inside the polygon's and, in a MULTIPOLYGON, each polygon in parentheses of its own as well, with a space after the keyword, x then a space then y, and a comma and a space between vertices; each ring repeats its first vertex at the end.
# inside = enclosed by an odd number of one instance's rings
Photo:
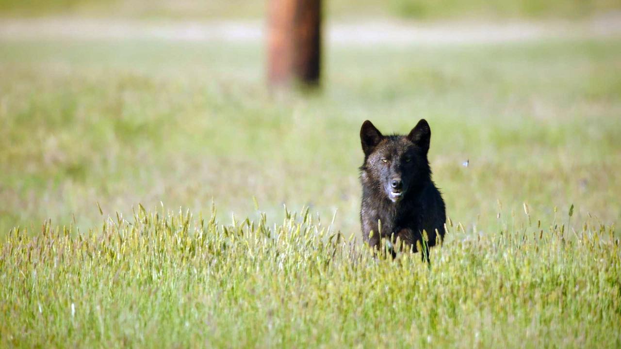
POLYGON ((328 52, 1 42, 0 345, 619 347, 621 40, 328 52), (430 268, 359 241, 359 127, 420 118, 430 268))

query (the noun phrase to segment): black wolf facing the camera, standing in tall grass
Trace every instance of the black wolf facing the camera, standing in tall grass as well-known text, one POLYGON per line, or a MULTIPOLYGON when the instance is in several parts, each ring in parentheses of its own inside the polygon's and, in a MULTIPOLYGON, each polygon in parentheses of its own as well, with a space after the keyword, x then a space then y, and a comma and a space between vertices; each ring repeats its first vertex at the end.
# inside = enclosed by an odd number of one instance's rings
MULTIPOLYGON (((423 230, 428 247, 437 243, 438 234, 444 237, 444 201, 431 179, 427 160, 430 138, 431 129, 424 119, 407 136, 384 136, 369 120, 362 124, 365 163, 360 167, 360 221, 370 247, 379 248, 381 238, 388 238, 389 243, 399 238, 402 248, 417 252, 417 242, 425 247, 423 230)), ((392 244, 389 248, 396 256, 392 244)))

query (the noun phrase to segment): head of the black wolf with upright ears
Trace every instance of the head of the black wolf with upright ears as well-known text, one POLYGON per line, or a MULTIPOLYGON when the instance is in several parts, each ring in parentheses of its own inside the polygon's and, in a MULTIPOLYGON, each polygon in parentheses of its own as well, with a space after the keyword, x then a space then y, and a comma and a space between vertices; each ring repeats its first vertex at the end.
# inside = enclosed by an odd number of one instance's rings
POLYGON ((365 152, 365 163, 360 168, 363 181, 385 193, 392 202, 420 189, 431 173, 427 161, 430 138, 431 129, 425 119, 407 136, 384 136, 366 120, 360 129, 365 152))

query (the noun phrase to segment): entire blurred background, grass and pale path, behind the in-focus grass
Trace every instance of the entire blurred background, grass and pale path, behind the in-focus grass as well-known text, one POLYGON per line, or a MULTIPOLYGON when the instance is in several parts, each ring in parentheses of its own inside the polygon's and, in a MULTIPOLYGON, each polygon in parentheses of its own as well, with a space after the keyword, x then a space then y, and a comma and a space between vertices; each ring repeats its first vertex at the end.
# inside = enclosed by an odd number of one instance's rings
POLYGON ((97 204, 208 217, 213 201, 228 224, 256 201, 357 235, 366 119, 428 120, 433 179, 469 232, 524 203, 545 224, 571 204, 578 222, 621 217, 621 2, 325 1, 310 91, 268 84, 269 8, 0 0, 0 232, 94 227, 97 204))

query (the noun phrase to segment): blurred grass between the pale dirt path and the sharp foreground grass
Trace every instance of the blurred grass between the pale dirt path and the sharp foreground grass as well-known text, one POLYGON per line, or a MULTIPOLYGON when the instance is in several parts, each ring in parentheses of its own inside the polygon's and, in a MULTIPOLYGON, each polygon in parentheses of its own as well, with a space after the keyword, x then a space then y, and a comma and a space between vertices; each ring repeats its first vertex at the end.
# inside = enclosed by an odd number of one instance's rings
POLYGON ((621 215, 621 45, 567 40, 458 47, 331 47, 325 86, 279 98, 260 46, 178 42, 0 45, 0 229, 135 202, 245 215, 252 197, 359 229, 365 119, 425 118, 448 215, 490 231, 497 201, 621 215), (466 168, 462 163, 470 160, 466 168))

